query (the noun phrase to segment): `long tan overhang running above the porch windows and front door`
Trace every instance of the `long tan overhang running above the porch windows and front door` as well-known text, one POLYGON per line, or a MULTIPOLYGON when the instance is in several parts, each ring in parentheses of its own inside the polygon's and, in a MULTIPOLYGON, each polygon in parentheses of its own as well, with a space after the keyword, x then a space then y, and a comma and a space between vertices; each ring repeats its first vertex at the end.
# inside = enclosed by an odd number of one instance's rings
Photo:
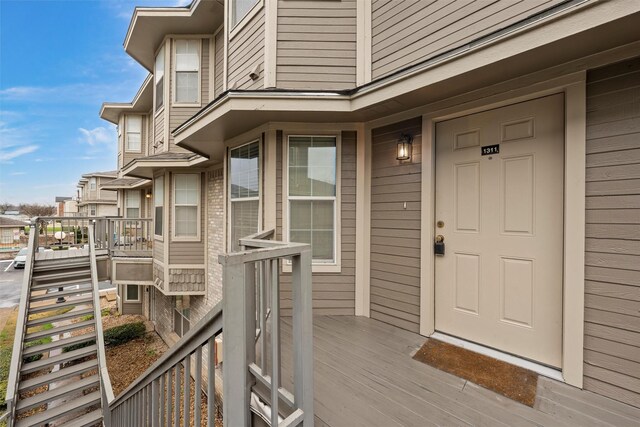
POLYGON ((177 145, 221 160, 225 140, 268 122, 369 122, 412 109, 420 116, 426 105, 508 81, 522 85, 542 70, 583 72, 584 58, 621 46, 637 56, 639 22, 640 3, 573 1, 349 92, 228 91, 172 134, 177 145))

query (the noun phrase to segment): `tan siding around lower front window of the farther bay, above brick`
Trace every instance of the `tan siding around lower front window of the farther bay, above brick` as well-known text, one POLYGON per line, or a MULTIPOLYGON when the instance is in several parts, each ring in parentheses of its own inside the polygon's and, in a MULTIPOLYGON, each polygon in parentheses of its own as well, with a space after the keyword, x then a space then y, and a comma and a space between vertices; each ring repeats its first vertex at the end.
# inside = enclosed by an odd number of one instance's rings
MULTIPOLYGON (((174 173, 182 173, 182 172, 172 172, 169 174, 170 176, 170 191, 169 191, 169 200, 168 205, 169 209, 167 212, 167 221, 169 221, 169 233, 168 238, 170 239, 169 243, 169 264, 187 264, 187 265, 200 265, 204 264, 205 258, 205 250, 204 250, 204 239, 205 239, 205 203, 206 203, 206 182, 203 179, 203 174, 200 174, 200 241, 199 242, 181 242, 174 241, 172 239, 173 234, 173 175, 174 173)), ((184 173, 190 173, 185 170, 184 173)), ((166 184, 165 184, 166 185, 166 184)), ((167 237, 165 237, 167 238, 167 237)))

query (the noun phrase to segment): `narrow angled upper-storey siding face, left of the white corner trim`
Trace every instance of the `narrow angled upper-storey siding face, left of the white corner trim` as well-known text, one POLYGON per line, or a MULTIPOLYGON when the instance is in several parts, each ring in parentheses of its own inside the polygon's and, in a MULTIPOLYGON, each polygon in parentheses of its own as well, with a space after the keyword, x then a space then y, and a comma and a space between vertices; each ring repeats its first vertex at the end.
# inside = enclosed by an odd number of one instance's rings
POLYGON ((229 41, 228 87, 262 89, 264 86, 264 8, 229 41), (249 73, 258 67, 259 77, 249 73), (235 83, 235 84, 234 84, 235 83))

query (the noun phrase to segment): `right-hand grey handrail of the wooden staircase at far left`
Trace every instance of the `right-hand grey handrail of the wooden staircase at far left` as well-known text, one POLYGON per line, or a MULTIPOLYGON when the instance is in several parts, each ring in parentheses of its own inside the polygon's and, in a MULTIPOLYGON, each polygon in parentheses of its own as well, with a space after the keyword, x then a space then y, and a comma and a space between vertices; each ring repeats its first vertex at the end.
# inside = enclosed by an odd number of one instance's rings
POLYGON ((107 370, 107 356, 104 349, 104 332, 102 330, 102 310, 100 308, 100 289, 98 287, 98 264, 94 236, 95 220, 89 223, 89 265, 91 267, 91 290, 93 294, 93 318, 95 320, 96 344, 98 347, 98 370, 100 376, 100 392, 102 399, 102 418, 105 426, 111 426, 109 402, 114 400, 111 379, 107 370))

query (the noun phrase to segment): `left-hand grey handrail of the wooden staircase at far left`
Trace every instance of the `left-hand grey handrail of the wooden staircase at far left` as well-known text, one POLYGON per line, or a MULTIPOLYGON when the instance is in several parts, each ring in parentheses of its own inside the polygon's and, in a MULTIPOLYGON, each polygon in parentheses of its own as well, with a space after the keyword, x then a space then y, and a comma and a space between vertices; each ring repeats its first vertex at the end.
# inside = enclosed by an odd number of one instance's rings
POLYGON ((31 294, 31 278, 33 276, 33 264, 36 256, 38 237, 38 217, 31 219, 29 228, 29 250, 24 264, 24 274, 22 276, 22 290, 20 292, 20 305, 18 306, 18 318, 16 320, 16 333, 13 338, 13 351, 11 353, 11 365, 9 365, 9 378, 7 380, 7 403, 8 424, 13 425, 15 420, 16 392, 18 381, 20 380, 20 368, 22 367, 22 350, 24 337, 27 332, 27 313, 29 312, 29 295, 31 294))

